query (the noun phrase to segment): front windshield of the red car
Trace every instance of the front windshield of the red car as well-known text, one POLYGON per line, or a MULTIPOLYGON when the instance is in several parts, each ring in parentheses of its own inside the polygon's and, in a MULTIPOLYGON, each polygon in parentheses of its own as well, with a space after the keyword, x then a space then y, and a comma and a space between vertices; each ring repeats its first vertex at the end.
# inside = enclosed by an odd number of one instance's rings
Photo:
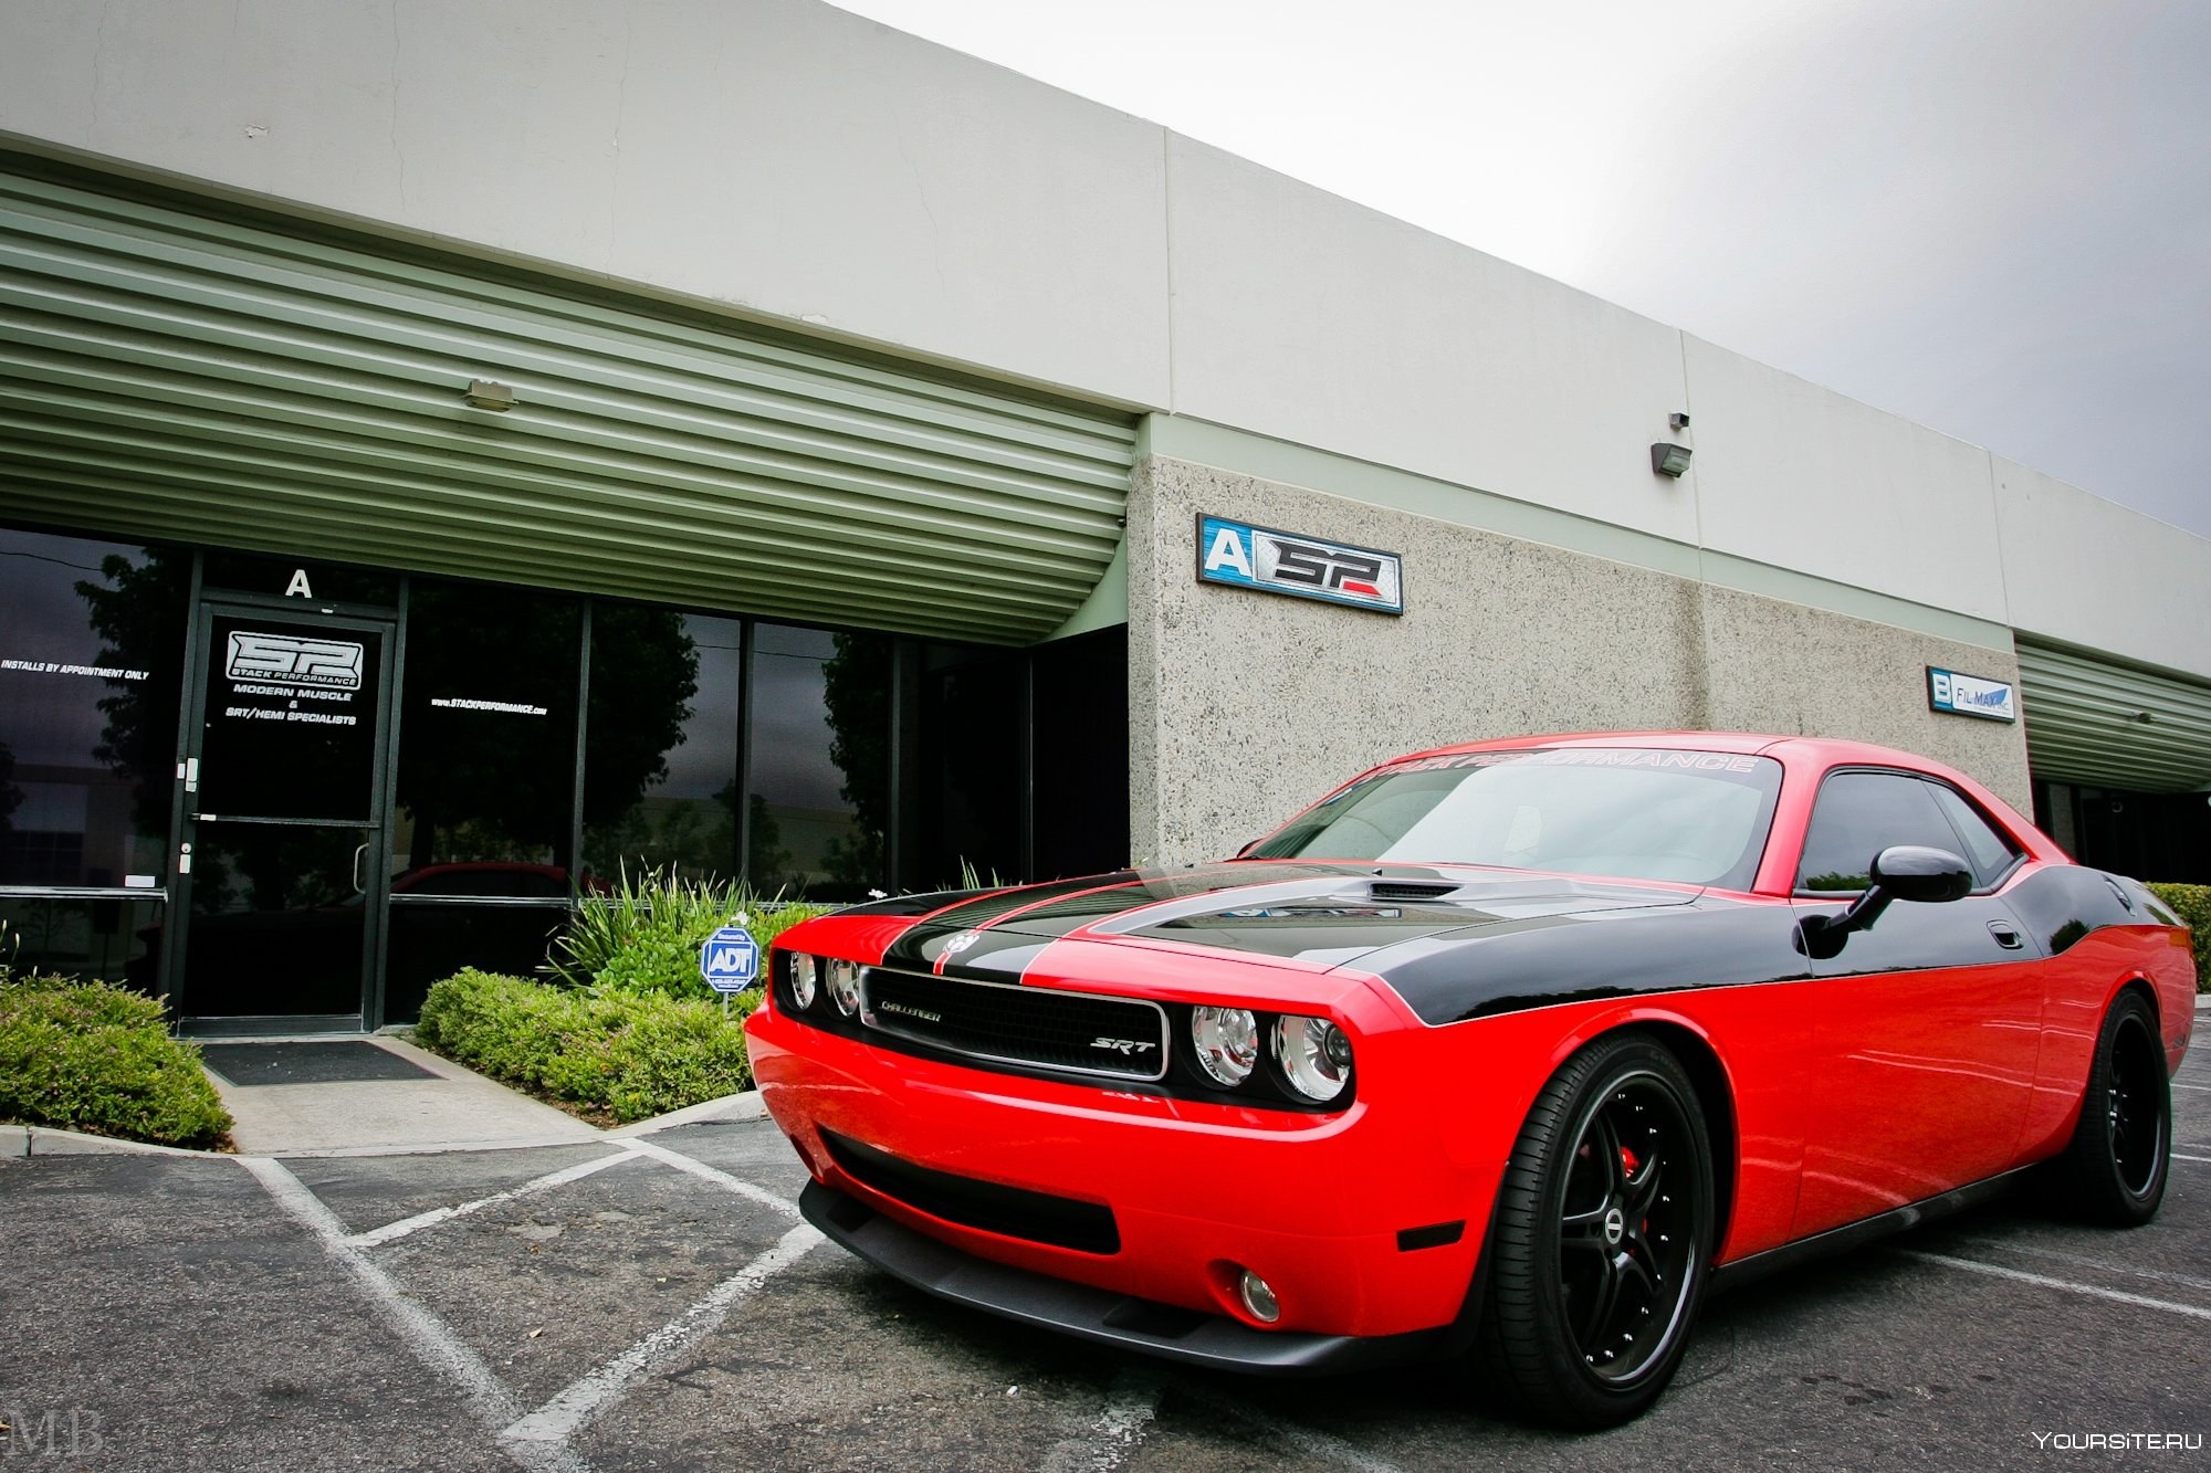
POLYGON ((1749 889, 1782 765, 1733 752, 1466 752, 1384 767, 1251 858, 1501 865, 1749 889))

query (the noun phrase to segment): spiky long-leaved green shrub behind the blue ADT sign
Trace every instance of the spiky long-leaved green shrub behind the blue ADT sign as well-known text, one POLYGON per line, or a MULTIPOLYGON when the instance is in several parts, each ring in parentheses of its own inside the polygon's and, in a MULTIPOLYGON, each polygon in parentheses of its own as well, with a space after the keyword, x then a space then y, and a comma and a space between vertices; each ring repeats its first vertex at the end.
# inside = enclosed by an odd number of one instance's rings
POLYGON ((734 916, 767 944, 829 907, 763 898, 743 885, 683 880, 659 869, 624 871, 608 896, 586 896, 553 942, 551 971, 570 986, 661 997, 714 997, 699 980, 699 947, 734 916))

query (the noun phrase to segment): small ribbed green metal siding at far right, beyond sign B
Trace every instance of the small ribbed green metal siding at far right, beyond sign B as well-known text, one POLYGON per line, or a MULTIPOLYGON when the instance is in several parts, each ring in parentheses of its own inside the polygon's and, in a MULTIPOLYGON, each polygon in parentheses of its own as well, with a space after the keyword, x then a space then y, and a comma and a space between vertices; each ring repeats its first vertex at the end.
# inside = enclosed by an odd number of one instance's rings
POLYGON ((2039 779, 2131 792, 2211 785, 2211 686, 2021 639, 2019 710, 2039 779))

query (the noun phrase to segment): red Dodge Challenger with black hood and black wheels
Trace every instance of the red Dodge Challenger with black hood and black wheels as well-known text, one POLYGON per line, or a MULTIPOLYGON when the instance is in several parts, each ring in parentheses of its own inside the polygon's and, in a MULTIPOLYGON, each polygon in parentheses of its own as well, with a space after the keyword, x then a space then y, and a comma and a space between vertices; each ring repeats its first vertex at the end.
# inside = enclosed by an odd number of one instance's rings
POLYGON ((1645 1409, 1714 1285, 2027 1168, 2147 1221, 2189 933, 1972 779, 1718 732, 1404 756, 1238 858, 783 933, 805 1214, 944 1298, 1645 1409))

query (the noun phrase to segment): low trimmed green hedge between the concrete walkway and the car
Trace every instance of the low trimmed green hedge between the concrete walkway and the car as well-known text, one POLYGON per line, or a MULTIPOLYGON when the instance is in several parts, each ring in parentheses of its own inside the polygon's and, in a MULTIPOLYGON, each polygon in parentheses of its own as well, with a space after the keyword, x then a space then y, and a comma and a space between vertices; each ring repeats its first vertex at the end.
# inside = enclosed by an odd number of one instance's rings
POLYGON ((738 1024, 756 1000, 732 1000, 723 1020, 719 1002, 471 969, 429 989, 416 1042, 577 1112, 628 1124, 750 1088, 738 1024))

